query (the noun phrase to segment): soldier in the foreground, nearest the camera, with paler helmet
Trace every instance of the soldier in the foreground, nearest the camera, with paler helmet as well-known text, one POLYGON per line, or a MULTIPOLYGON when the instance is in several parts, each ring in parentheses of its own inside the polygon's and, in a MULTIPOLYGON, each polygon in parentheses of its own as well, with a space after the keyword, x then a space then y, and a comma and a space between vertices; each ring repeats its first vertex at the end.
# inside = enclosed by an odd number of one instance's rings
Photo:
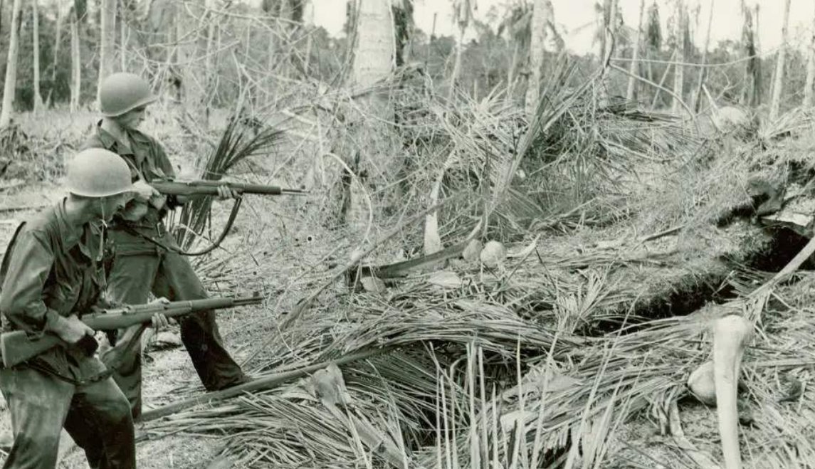
POLYGON ((64 341, 0 370, 14 438, 3 467, 55 467, 62 427, 90 467, 136 467, 130 406, 99 358, 81 347, 95 346, 94 331, 77 318, 107 306, 104 224, 133 196, 130 170, 110 151, 81 151, 68 164, 68 191, 17 228, 0 268, 3 331, 64 341))

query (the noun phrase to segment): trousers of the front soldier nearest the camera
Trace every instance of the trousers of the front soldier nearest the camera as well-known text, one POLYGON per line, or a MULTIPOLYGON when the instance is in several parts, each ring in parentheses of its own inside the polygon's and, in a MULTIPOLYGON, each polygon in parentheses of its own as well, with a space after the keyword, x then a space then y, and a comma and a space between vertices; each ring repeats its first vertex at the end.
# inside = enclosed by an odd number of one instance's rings
POLYGON ((14 434, 4 469, 56 467, 63 427, 92 469, 136 467, 130 406, 112 379, 75 385, 23 367, 0 370, 0 389, 14 434))

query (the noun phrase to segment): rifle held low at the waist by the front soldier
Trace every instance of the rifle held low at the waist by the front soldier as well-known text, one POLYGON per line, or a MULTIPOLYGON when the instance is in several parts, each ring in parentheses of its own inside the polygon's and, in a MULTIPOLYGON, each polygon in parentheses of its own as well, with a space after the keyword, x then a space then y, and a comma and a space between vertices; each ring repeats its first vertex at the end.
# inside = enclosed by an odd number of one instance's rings
MULTIPOLYGON (((99 313, 83 314, 80 319, 94 331, 113 331, 122 327, 150 322, 156 313, 163 313, 168 318, 184 316, 189 313, 207 309, 235 308, 243 305, 257 305, 262 296, 244 296, 237 298, 206 298, 204 300, 170 301, 167 304, 126 305, 121 308, 104 309, 99 313)), ((11 331, 0 334, 0 353, 2 364, 6 368, 19 365, 57 346, 68 346, 57 335, 45 334, 30 339, 25 331, 11 331)), ((90 335, 86 335, 77 344, 89 357, 96 352, 99 344, 90 335)))

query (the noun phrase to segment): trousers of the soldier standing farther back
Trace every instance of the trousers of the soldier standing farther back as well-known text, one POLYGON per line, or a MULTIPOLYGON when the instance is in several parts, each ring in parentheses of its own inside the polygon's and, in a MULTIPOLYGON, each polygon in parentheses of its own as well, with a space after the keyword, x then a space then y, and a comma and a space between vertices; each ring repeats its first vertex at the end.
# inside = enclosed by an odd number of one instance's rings
MULTIPOLYGON (((207 297, 192 265, 183 256, 121 230, 112 230, 111 238, 115 246, 108 272, 111 300, 127 305, 142 305, 148 302, 151 291, 157 298, 164 296, 170 301, 207 297)), ((161 243, 175 245, 170 234, 162 236, 161 243)), ((214 311, 190 314, 179 318, 178 323, 184 347, 208 391, 229 388, 246 381, 240 366, 223 345, 214 311)), ((105 357, 102 359, 104 362, 105 357)), ((141 348, 134 347, 132 353, 123 357, 115 368, 112 378, 130 401, 134 419, 138 419, 142 408, 141 348)))

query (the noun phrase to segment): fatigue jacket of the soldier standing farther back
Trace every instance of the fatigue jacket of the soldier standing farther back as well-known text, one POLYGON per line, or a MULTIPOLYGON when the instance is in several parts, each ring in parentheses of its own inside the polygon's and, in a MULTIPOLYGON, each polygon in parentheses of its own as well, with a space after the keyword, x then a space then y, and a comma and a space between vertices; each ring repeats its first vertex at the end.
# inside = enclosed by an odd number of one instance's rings
MULTIPOLYGON (((151 182, 156 179, 171 179, 175 177, 173 165, 170 164, 170 158, 167 157, 161 143, 157 142, 155 138, 143 134, 138 130, 131 129, 124 131, 130 139, 130 148, 122 145, 116 137, 102 129, 102 122, 99 121, 96 124, 94 134, 86 140, 81 149, 104 148, 121 156, 127 165, 130 166, 132 182, 139 180, 151 182)), ((161 208, 156 208, 154 204, 150 204, 144 200, 130 200, 124 210, 121 211, 121 217, 117 216, 113 219, 110 226, 111 230, 115 232, 122 230, 124 226, 129 226, 139 234, 153 238, 161 237, 166 231, 162 219, 165 216, 167 208, 178 206, 174 197, 168 197, 164 202, 165 204, 161 204, 161 208), (145 205, 147 213, 143 215, 143 217, 134 219, 135 216, 132 214, 139 211, 139 209, 143 211, 145 205)), ((113 237, 114 239, 116 238, 115 233, 113 237)), ((145 241, 144 243, 148 242, 145 241)))

